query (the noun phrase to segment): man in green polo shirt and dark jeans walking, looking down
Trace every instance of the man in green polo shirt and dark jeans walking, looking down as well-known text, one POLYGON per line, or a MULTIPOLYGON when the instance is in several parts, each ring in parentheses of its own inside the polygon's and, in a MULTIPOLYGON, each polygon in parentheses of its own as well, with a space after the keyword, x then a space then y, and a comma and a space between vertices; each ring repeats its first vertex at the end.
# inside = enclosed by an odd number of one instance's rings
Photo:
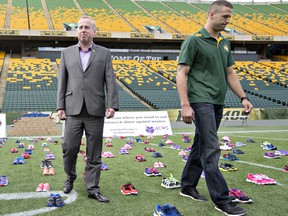
POLYGON ((232 4, 227 1, 213 2, 205 26, 188 37, 181 46, 176 76, 181 116, 187 124, 194 122, 196 130, 182 173, 180 194, 207 201, 196 189, 204 170, 215 209, 226 215, 245 215, 246 210, 229 198, 227 183, 218 168, 221 150, 217 131, 227 86, 240 98, 247 113, 253 108, 233 71, 230 43, 220 34, 229 23, 232 10, 232 4))

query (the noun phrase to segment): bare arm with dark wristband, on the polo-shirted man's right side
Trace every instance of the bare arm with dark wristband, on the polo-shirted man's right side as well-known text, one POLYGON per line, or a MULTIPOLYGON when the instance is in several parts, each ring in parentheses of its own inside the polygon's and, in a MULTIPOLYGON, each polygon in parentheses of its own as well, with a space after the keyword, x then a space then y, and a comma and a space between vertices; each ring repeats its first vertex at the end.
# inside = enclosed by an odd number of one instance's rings
MULTIPOLYGON (((245 98, 246 94, 243 91, 240 81, 236 75, 236 73, 234 72, 232 66, 227 68, 227 80, 228 80, 228 86, 230 87, 230 89, 234 92, 234 94, 236 94, 239 98, 245 98)), ((244 99, 241 101, 245 112, 246 113, 250 113, 251 110, 253 109, 253 105, 249 102, 248 99, 244 99)))

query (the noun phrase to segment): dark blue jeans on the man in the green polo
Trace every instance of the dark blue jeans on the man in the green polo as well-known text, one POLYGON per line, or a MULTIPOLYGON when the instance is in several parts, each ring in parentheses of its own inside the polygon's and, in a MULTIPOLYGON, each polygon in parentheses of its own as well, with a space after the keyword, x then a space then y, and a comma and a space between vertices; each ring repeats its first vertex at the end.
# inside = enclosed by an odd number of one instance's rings
POLYGON ((196 189, 204 170, 212 201, 216 205, 226 204, 230 202, 229 189, 218 168, 221 150, 217 136, 223 106, 193 103, 191 107, 195 112, 196 130, 191 153, 182 173, 181 190, 196 189))

